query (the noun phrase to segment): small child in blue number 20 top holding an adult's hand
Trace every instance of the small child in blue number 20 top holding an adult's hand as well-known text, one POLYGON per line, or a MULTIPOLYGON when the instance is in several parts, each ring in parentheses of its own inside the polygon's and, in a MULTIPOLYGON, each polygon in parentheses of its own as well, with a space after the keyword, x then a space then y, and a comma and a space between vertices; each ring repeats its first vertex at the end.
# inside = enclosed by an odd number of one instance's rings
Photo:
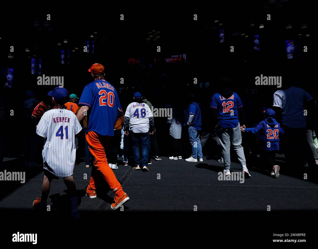
POLYGON ((265 119, 254 128, 243 128, 242 132, 257 133, 261 131, 261 158, 264 160, 266 167, 269 169, 271 176, 279 177, 280 167, 276 165, 276 153, 279 150, 279 134, 284 134, 283 128, 275 120, 275 111, 273 109, 266 109, 264 111, 265 119))

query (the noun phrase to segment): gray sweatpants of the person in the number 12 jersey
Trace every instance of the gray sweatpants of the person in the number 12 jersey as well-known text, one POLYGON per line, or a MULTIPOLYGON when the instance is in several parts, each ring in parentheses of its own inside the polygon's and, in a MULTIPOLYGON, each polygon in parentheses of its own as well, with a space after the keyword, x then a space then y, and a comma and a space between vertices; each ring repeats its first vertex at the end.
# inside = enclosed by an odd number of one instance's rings
POLYGON ((236 155, 241 165, 246 165, 244 150, 243 150, 243 147, 241 146, 242 136, 241 136, 240 124, 238 124, 238 126, 234 128, 222 128, 220 125, 218 125, 216 131, 217 131, 218 138, 222 147, 225 169, 230 169, 230 165, 231 165, 231 156, 230 156, 231 144, 234 151, 236 152, 236 155))

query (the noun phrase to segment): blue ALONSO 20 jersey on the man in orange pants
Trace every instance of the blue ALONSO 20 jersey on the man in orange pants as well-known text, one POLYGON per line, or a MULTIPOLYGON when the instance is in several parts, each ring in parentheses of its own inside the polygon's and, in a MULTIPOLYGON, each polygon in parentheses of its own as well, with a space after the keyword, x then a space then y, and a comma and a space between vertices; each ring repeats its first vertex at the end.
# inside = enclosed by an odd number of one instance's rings
POLYGON ((100 79, 87 84, 78 104, 90 107, 86 133, 94 131, 102 136, 114 136, 118 109, 122 108, 116 89, 109 82, 100 79))

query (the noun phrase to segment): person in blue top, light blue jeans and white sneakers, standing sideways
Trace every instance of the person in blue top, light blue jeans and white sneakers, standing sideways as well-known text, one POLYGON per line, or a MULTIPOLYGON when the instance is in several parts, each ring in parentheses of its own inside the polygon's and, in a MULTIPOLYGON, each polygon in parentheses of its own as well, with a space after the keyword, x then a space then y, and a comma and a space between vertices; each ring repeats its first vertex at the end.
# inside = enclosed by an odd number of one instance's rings
POLYGON ((192 154, 186 159, 188 162, 203 161, 202 147, 199 137, 201 131, 201 109, 197 102, 194 101, 194 95, 189 96, 190 105, 185 113, 184 126, 188 126, 189 139, 192 146, 192 154))

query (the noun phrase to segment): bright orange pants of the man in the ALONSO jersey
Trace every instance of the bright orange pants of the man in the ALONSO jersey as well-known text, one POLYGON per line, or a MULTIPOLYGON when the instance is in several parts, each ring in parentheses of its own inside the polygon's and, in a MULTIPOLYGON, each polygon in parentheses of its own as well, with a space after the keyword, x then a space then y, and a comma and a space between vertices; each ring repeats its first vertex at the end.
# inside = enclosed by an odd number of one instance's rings
POLYGON ((107 181, 109 187, 117 195, 122 191, 121 184, 117 180, 113 170, 109 167, 106 158, 106 149, 111 137, 102 136, 96 132, 89 131, 86 133, 86 141, 88 148, 95 157, 92 167, 91 180, 89 181, 89 188, 96 189, 96 184, 100 175, 107 181))

